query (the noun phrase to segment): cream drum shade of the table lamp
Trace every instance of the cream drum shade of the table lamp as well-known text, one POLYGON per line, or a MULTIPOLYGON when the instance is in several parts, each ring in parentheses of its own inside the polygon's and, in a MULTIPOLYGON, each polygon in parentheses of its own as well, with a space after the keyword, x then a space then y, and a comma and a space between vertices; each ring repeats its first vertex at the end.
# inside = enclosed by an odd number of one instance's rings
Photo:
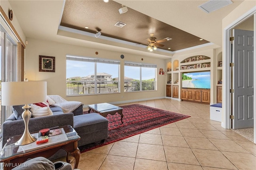
POLYGON ((2 82, 2 105, 39 103, 47 99, 46 81, 2 82))

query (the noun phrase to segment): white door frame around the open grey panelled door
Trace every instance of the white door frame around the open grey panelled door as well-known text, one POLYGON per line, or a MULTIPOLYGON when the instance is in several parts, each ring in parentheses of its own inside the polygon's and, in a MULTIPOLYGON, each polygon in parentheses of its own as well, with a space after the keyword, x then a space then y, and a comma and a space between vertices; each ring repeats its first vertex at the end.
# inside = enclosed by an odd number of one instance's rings
MULTIPOLYGON (((232 29, 237 26, 238 24, 244 22, 246 19, 250 18, 251 16, 254 16, 254 70, 256 70, 256 7, 252 8, 240 18, 235 20, 232 24, 230 24, 228 27, 224 28, 223 30, 223 54, 225 57, 222 58, 223 61, 223 69, 222 69, 222 75, 223 75, 223 81, 222 81, 222 123, 221 126, 224 128, 230 129, 231 127, 231 121, 230 121, 230 112, 231 112, 231 99, 230 99, 230 80, 231 80, 231 68, 229 66, 229 63, 231 62, 231 43, 229 41, 229 38, 231 36, 232 29)), ((254 87, 256 88, 256 74, 254 74, 254 87)), ((256 89, 254 90, 254 143, 256 144, 256 89)))

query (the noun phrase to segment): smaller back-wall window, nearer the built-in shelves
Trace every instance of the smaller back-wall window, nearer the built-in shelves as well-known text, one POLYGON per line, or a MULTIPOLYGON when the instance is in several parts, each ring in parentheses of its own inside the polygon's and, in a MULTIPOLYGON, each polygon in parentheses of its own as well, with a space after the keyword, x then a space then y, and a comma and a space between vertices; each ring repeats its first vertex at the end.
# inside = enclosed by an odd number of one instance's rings
POLYGON ((156 65, 124 62, 124 91, 156 90, 156 65))

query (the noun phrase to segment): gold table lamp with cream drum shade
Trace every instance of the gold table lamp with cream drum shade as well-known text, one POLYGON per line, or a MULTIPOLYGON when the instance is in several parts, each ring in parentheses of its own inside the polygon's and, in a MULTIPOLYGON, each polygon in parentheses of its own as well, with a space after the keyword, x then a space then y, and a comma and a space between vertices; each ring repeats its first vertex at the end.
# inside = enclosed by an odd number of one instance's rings
POLYGON ((24 105, 22 109, 22 119, 25 123, 25 129, 22 137, 15 144, 25 145, 36 140, 28 130, 28 122, 31 117, 31 103, 40 103, 46 101, 47 85, 46 81, 19 81, 19 82, 2 82, 2 105, 14 106, 24 105))

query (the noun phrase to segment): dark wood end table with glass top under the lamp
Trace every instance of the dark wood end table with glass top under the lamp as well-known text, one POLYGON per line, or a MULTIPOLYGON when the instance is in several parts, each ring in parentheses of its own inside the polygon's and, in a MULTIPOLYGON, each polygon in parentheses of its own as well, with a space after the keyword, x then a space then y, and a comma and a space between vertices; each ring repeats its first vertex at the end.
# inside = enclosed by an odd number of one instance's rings
MULTIPOLYGON (((13 136, 7 140, 4 148, 0 152, 0 162, 4 162, 4 170, 11 170, 14 168, 14 165, 17 166, 23 162, 25 162, 28 158, 36 158, 38 156, 42 156, 45 158, 49 158, 54 153, 56 153, 61 148, 66 150, 66 161, 70 163, 68 160, 68 153, 70 153, 75 158, 74 169, 78 167, 79 159, 80 159, 80 150, 78 148, 78 140, 80 140, 80 136, 77 135, 74 128, 70 125, 63 128, 67 139, 62 140, 61 142, 57 142, 54 144, 47 144, 38 146, 38 148, 32 148, 28 150, 20 150, 20 146, 16 146, 15 142, 17 142, 22 135, 13 136)), ((53 136, 51 136, 53 137, 53 136)), ((49 137, 49 138, 51 138, 49 137)), ((36 142, 36 141, 35 141, 36 142)), ((28 144, 29 145, 29 144, 28 144)), ((24 145, 26 147, 26 145, 24 145)), ((27 146, 28 147, 28 146, 27 146)))

